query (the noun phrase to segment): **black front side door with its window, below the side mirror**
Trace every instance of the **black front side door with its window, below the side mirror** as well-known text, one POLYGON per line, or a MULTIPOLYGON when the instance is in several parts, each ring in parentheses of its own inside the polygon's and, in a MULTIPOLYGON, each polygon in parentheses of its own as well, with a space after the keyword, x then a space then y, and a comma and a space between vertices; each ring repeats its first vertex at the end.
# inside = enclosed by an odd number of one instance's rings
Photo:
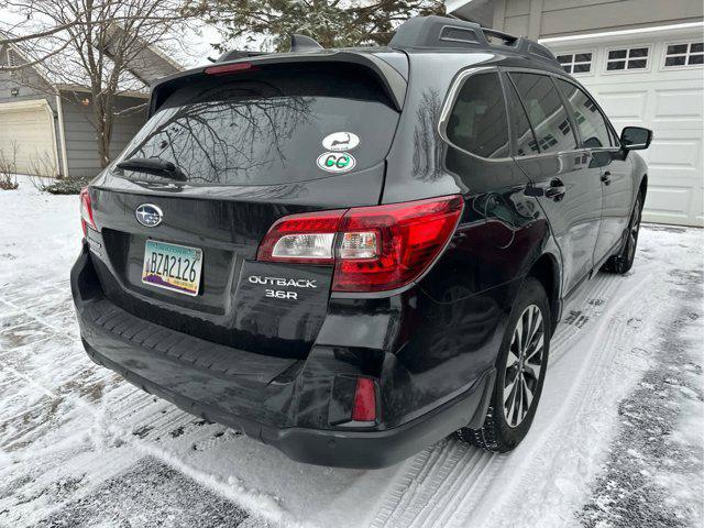
POLYGON ((634 197, 631 166, 594 100, 565 79, 557 78, 556 82, 579 127, 584 147, 592 152, 592 166, 600 170, 603 205, 594 248, 594 261, 597 263, 614 252, 628 224, 634 197))

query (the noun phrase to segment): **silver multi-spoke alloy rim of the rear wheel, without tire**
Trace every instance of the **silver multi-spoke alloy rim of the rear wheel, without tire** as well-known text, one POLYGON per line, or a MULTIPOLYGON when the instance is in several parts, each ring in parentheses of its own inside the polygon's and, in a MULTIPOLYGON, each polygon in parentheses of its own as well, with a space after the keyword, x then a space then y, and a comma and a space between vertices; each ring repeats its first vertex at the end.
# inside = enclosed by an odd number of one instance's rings
POLYGON ((516 321, 504 378, 504 417, 518 427, 528 411, 544 367, 544 323, 540 308, 528 306, 516 321))

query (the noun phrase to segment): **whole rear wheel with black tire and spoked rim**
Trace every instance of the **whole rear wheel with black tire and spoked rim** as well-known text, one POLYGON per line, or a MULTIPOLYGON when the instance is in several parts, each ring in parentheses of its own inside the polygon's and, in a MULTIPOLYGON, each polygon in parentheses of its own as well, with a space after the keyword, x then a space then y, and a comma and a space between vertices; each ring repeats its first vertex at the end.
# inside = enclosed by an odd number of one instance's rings
POLYGON ((552 327, 550 321, 548 296, 540 282, 528 277, 516 297, 504 332, 496 359, 496 382, 484 425, 481 429, 460 429, 460 440, 504 453, 513 450, 526 437, 546 377, 552 327), (531 323, 537 324, 535 332, 531 332, 531 323), (532 333, 532 338, 522 346, 518 337, 525 342, 528 333, 532 333), (506 398, 505 389, 509 391, 506 398), (529 394, 532 396, 527 409, 518 408, 529 394))

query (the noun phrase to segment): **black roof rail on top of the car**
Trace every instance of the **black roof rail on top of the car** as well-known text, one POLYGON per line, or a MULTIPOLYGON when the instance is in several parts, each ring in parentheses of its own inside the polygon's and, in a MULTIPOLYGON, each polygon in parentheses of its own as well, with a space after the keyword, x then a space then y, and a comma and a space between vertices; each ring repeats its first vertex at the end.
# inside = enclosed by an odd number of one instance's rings
POLYGON ((404 22, 388 44, 396 48, 496 48, 509 47, 518 53, 532 55, 560 66, 552 52, 525 36, 514 36, 503 31, 482 28, 449 16, 415 16, 404 22))

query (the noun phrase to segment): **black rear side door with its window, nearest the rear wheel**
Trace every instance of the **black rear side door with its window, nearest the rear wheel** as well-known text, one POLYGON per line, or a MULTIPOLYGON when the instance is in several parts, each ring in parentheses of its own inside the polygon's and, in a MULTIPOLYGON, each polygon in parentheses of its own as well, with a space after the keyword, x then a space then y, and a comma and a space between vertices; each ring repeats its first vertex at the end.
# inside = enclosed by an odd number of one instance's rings
POLYGON ((518 141, 516 162, 532 183, 528 193, 550 220, 562 255, 562 290, 569 293, 593 266, 602 210, 598 168, 592 166, 591 152, 579 147, 551 76, 509 72, 508 78, 515 89, 509 92, 513 112, 524 112, 535 134, 531 142, 518 131, 528 141, 518 141))

